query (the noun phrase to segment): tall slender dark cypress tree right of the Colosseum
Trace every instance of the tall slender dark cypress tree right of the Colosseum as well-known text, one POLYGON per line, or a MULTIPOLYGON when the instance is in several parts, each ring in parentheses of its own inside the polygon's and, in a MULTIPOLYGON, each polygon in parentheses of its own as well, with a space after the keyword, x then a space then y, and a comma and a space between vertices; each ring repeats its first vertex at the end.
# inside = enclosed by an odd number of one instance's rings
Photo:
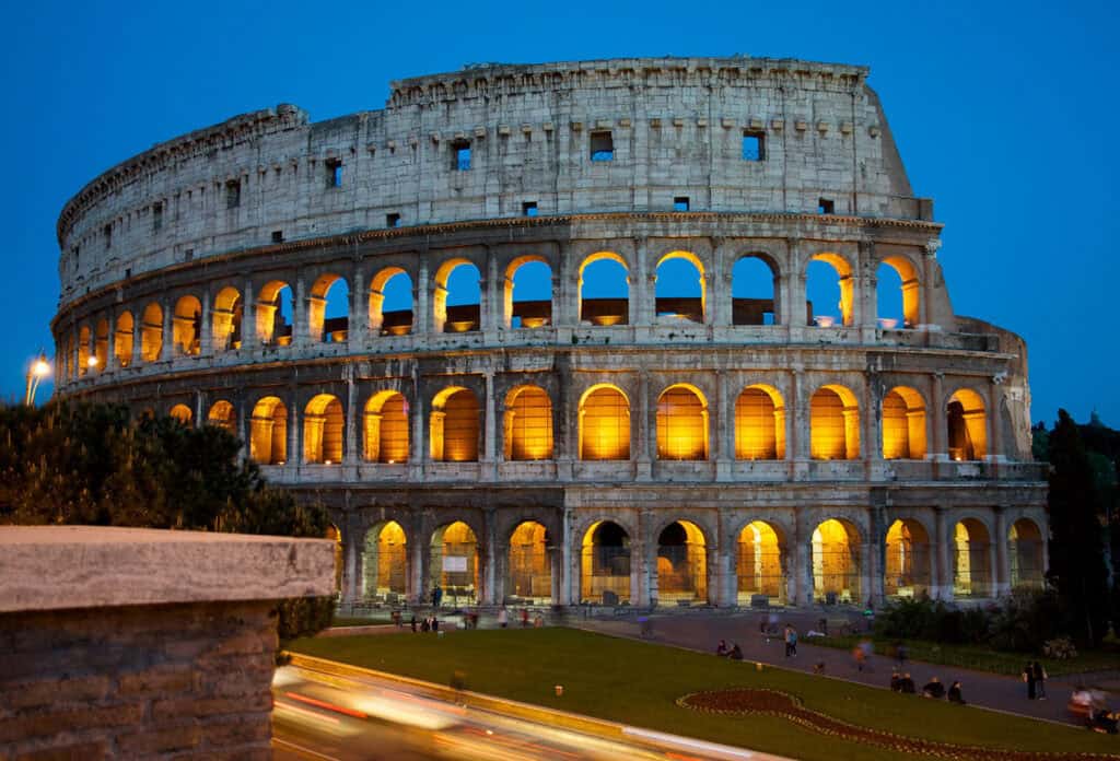
POLYGON ((1077 425, 1065 410, 1049 434, 1049 580, 1074 637, 1095 646, 1109 617, 1101 496, 1077 425))

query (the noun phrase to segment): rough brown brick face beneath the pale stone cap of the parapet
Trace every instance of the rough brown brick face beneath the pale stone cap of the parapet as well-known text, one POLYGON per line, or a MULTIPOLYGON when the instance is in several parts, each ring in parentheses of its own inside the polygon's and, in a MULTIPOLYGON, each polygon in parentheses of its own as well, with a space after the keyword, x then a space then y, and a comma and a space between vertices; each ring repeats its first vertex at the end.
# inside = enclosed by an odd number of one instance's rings
POLYGON ((0 761, 271 759, 272 608, 0 614, 0 761))

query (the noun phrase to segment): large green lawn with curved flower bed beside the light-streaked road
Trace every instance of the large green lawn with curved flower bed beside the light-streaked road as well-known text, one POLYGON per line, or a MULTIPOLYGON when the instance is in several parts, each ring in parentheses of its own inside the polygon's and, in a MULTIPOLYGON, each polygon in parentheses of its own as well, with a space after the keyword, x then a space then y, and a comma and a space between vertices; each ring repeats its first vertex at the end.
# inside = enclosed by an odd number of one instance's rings
MULTIPOLYGON (((455 669, 467 688, 576 713, 799 759, 893 759, 769 716, 708 715, 678 697, 730 686, 767 687, 853 724, 959 744, 1120 753, 1116 737, 979 708, 904 696, 836 679, 735 663, 660 645, 573 629, 457 631, 447 637, 382 635, 302 639, 297 652, 448 684, 455 669), (563 697, 553 685, 564 686, 563 697)), ((1118 757, 1120 758, 1120 757, 1118 757)))

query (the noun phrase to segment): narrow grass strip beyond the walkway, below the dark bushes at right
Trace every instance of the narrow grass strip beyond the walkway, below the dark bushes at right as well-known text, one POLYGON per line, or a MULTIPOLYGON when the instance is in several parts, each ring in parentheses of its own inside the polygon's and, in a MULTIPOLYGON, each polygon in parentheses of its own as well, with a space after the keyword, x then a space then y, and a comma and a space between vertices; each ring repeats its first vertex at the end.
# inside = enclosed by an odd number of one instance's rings
MULTIPOLYGON (((804 641, 810 645, 851 650, 857 642, 864 639, 866 639, 866 636, 852 635, 848 637, 813 637, 804 641)), ((876 637, 875 651, 881 655, 894 655, 895 641, 893 638, 876 637)), ((992 674, 1009 676, 1018 676, 1023 673, 1023 667, 1026 663, 1035 659, 1033 656, 1021 652, 998 652, 978 645, 941 645, 939 642, 906 640, 906 647, 909 648, 909 657, 914 660, 925 660, 931 664, 942 664, 945 666, 960 666, 978 671, 990 671, 992 674)), ((1081 652, 1076 658, 1068 660, 1049 660, 1046 658, 1039 658, 1038 660, 1046 667, 1046 673, 1049 676, 1120 669, 1120 651, 1111 649, 1081 652)))

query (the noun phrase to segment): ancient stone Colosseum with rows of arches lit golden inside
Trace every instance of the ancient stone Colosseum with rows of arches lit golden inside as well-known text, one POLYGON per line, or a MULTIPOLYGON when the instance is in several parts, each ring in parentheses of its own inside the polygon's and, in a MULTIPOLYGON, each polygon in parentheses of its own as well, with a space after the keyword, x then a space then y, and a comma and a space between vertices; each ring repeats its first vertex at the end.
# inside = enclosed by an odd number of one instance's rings
POLYGON ((59 216, 58 394, 236 434, 344 603, 1040 584, 1026 347, 953 312, 867 77, 474 65, 159 143, 59 216))

